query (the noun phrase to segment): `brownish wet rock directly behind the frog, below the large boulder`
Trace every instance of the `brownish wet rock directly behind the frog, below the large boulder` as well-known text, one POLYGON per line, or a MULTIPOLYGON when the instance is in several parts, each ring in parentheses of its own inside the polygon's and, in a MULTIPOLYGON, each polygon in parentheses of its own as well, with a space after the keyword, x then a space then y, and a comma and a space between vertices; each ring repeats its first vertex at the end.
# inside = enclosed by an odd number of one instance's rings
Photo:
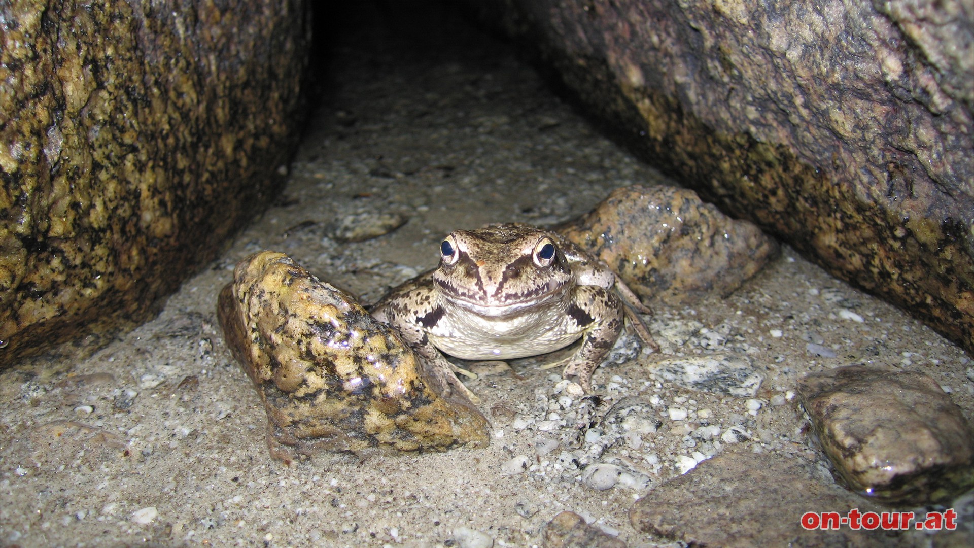
POLYGON ((778 249, 753 224, 672 186, 618 188, 558 231, 605 261, 632 291, 669 304, 730 294, 778 249))

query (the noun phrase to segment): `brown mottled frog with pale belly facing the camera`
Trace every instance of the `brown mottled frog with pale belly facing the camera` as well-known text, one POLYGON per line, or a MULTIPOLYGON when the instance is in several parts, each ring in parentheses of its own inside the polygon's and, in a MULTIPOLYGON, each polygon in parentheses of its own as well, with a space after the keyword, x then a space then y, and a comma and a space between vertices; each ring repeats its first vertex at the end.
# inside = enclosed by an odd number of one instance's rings
POLYGON ((371 308, 420 356, 444 397, 480 399, 457 377, 476 375, 444 354, 503 361, 547 354, 579 339, 573 354, 543 369, 592 391, 592 374, 624 320, 659 352, 637 313, 652 314, 607 265, 557 232, 521 223, 455 230, 439 244, 439 265, 390 291, 371 308))

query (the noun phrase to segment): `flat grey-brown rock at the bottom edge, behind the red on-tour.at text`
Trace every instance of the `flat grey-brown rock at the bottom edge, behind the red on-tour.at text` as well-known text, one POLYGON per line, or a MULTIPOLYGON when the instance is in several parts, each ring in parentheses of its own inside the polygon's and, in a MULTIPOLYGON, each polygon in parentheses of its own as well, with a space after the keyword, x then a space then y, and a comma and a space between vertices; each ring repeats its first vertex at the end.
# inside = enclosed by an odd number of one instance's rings
POLYGON ((799 457, 729 450, 651 490, 632 505, 629 520, 636 530, 691 546, 889 545, 881 530, 802 528, 809 511, 881 511, 822 476, 799 457))

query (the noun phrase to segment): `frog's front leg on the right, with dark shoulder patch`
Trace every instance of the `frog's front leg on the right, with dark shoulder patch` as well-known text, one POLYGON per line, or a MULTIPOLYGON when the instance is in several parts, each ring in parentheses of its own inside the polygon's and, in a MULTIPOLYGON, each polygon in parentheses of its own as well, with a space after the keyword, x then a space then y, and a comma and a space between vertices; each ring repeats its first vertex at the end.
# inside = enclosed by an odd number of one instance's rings
POLYGON ((592 372, 616 344, 622 331, 622 301, 612 290, 599 286, 580 286, 575 290, 567 310, 567 322, 581 330, 581 346, 575 354, 543 369, 565 366, 562 376, 578 377, 586 391, 592 389, 592 372))

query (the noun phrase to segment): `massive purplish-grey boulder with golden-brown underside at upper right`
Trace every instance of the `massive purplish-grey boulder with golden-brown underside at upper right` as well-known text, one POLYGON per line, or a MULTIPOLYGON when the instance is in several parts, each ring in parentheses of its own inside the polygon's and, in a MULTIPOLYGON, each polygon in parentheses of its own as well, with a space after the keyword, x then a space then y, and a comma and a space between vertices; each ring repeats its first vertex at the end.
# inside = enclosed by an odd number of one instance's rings
POLYGON ((969 2, 468 3, 651 163, 974 350, 969 2))

